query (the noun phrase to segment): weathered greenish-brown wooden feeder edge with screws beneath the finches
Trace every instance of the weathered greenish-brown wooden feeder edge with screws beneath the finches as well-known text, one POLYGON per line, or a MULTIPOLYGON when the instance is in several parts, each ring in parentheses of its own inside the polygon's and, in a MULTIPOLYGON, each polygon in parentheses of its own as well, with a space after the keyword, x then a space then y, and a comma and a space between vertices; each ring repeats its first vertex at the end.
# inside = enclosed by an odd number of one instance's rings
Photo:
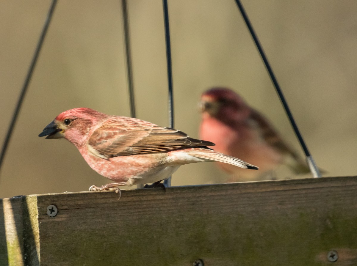
POLYGON ((112 191, 41 194, 0 205, 0 265, 191 266, 196 259, 357 265, 357 177, 123 190, 119 200, 112 191))

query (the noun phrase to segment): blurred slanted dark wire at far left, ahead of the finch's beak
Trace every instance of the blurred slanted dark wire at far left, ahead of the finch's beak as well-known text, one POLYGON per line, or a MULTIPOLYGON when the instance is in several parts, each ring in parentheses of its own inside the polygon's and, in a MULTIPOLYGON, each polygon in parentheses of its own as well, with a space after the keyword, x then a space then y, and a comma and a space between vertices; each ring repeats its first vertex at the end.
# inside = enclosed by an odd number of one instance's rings
POLYGON ((24 85, 22 87, 19 99, 17 100, 17 105, 16 105, 16 108, 15 108, 14 114, 12 115, 12 119, 11 119, 11 122, 10 122, 9 129, 7 130, 7 134, 6 134, 6 137, 5 137, 5 140, 4 140, 4 144, 2 144, 1 155, 0 155, 0 170, 1 170, 1 167, 2 167, 2 162, 4 161, 4 158, 5 158, 7 147, 9 145, 9 142, 10 142, 10 139, 11 139, 12 132, 14 131, 14 127, 15 127, 15 124, 16 124, 16 121, 17 121, 17 117, 19 116, 19 113, 20 113, 22 102, 24 101, 25 94, 27 92, 27 88, 29 87, 29 83, 30 83, 30 80, 31 80, 31 77, 32 77, 32 73, 34 72, 34 69, 35 69, 35 66, 36 66, 36 62, 37 62, 37 59, 38 59, 40 51, 41 51, 41 47, 42 47, 42 44, 44 42, 44 39, 45 39, 45 36, 46 36, 46 33, 47 33, 47 29, 48 29, 48 27, 50 25, 50 22, 51 22, 51 19, 52 19, 52 15, 53 15, 54 10, 55 10, 56 3, 57 3, 57 0, 52 0, 52 3, 51 3, 50 8, 49 8, 49 11, 47 13, 45 24, 44 24, 44 26, 42 28, 42 31, 41 31, 40 39, 37 42, 36 50, 35 50, 34 56, 32 57, 32 61, 31 61, 30 67, 29 67, 29 71, 27 72, 27 76, 25 78, 25 82, 24 82, 24 85))

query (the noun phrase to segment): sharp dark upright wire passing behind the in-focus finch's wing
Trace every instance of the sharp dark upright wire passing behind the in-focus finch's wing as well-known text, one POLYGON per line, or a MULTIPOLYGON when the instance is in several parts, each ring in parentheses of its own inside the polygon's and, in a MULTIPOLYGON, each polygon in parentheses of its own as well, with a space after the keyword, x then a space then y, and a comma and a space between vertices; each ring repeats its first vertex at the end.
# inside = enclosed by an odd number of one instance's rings
MULTIPOLYGON (((174 93, 172 89, 172 63, 171 63, 171 44, 170 44, 170 27, 169 27, 169 10, 167 0, 162 0, 165 21, 165 42, 166 42, 166 62, 167 62, 167 83, 168 83, 168 104, 169 104, 169 127, 174 128, 174 93)), ((164 180, 165 186, 171 186, 171 177, 164 180)))

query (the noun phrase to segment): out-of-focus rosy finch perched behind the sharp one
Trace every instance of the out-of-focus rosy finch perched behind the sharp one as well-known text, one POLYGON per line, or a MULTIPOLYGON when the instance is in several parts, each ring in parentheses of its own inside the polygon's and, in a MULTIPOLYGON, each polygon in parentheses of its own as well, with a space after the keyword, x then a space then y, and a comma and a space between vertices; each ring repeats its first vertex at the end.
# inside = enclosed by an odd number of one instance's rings
POLYGON ((270 122, 235 92, 227 88, 211 88, 201 96, 202 121, 200 138, 216 144, 215 150, 258 165, 259 172, 242 172, 218 163, 232 174, 229 181, 274 178, 274 170, 282 163, 296 174, 310 172, 307 163, 278 134, 270 122))

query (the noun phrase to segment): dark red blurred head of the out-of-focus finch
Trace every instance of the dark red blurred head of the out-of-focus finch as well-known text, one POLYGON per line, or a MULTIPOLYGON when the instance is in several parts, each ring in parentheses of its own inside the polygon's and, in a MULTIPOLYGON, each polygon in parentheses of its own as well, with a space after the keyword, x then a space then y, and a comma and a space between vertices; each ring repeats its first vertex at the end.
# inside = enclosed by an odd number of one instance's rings
POLYGON ((237 93, 221 87, 202 93, 199 110, 202 117, 214 117, 227 123, 243 121, 250 115, 250 108, 237 93))

